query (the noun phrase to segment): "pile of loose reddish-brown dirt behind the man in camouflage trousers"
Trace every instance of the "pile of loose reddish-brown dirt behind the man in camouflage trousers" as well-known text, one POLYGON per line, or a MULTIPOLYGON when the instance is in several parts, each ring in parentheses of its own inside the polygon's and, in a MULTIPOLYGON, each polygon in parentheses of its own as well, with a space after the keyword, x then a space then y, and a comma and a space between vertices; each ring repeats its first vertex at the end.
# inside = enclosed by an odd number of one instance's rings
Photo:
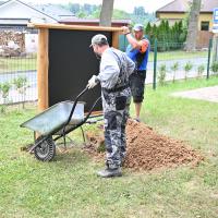
MULTIPOLYGON (((90 142, 85 148, 96 159, 102 159, 99 153, 104 145, 102 133, 87 134, 90 142)), ((124 167, 135 170, 153 170, 191 164, 198 165, 204 158, 183 142, 157 134, 144 123, 129 120, 126 125, 126 158, 124 167)))

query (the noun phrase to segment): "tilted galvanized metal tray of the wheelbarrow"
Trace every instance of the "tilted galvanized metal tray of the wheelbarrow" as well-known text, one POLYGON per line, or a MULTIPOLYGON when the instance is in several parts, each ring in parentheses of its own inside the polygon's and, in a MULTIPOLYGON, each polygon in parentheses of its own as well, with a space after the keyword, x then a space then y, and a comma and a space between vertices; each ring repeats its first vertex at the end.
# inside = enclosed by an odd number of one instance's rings
MULTIPOLYGON (((41 113, 22 123, 22 128, 27 128, 40 135, 49 135, 60 132, 66 124, 74 101, 58 102, 41 113)), ((77 102, 69 125, 76 125, 84 120, 84 102, 77 102)))

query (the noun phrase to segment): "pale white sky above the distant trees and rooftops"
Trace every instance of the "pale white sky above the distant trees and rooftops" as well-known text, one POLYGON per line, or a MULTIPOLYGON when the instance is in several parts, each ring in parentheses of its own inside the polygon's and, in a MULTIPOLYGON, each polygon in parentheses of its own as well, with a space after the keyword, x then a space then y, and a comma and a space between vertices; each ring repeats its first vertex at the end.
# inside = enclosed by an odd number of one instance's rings
MULTIPOLYGON (((89 4, 101 4, 102 0, 23 0, 25 2, 33 3, 89 3, 89 4)), ((133 12, 134 7, 144 7, 146 12, 154 12, 157 9, 166 5, 172 0, 114 0, 113 8, 120 9, 126 12, 133 12)))

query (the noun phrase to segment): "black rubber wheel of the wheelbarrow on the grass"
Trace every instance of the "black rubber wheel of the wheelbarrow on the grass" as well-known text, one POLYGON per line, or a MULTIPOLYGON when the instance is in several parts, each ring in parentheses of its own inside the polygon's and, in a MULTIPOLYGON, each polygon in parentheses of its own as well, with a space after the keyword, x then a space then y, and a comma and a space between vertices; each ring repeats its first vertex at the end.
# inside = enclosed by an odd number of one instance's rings
MULTIPOLYGON (((43 140, 43 136, 38 137, 36 143, 40 140, 43 140)), ((46 141, 35 147, 34 155, 38 160, 50 161, 56 155, 56 144, 52 137, 48 137, 46 141)))

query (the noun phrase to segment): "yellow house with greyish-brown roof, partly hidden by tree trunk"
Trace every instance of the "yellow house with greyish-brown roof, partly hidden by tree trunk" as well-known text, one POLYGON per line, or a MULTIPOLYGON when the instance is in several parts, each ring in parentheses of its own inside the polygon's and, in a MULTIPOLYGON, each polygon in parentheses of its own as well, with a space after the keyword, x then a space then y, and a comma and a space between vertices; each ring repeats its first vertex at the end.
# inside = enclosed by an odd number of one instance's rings
MULTIPOLYGON (((175 22, 184 20, 187 16, 190 10, 191 0, 174 0, 164 5, 156 11, 156 17, 158 24, 161 20, 168 20, 170 25, 175 22)), ((208 40, 213 37, 213 12, 218 8, 218 0, 202 0, 202 8, 198 17, 198 38, 197 45, 205 47, 208 45, 208 40)))

